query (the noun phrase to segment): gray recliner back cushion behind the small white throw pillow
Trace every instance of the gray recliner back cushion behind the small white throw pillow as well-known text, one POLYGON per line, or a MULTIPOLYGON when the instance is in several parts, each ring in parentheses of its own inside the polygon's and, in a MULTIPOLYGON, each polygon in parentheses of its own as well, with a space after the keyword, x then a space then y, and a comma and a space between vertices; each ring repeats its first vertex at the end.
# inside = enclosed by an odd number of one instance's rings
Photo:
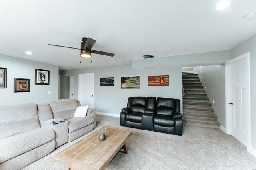
POLYGON ((70 119, 74 117, 76 108, 78 107, 78 100, 76 99, 62 99, 50 102, 53 117, 70 119))

